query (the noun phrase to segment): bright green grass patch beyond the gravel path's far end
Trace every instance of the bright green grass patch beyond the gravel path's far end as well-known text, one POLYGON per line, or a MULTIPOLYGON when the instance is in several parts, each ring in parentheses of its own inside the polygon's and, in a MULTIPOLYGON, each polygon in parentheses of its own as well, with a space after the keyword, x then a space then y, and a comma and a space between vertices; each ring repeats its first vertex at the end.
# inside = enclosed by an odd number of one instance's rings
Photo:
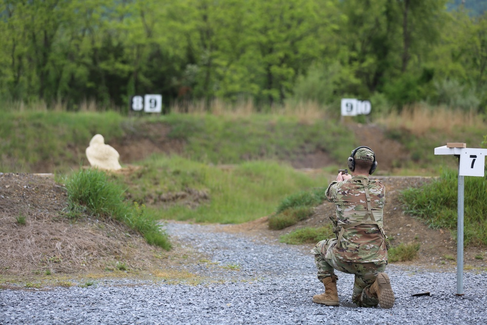
POLYGON ((288 165, 251 161, 233 168, 172 155, 153 156, 141 169, 120 181, 128 184, 133 200, 146 202, 155 219, 236 224, 271 214, 290 193, 327 183, 324 176, 310 177, 288 165), (160 202, 164 193, 204 192, 207 199, 194 205, 187 200, 160 202))

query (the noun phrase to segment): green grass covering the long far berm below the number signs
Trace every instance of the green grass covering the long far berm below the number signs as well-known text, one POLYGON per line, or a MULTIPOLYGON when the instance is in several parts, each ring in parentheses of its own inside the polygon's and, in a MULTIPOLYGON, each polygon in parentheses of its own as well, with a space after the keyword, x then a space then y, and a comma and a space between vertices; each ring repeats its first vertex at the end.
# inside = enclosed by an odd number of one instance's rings
MULTIPOLYGON (((7 110, 0 119, 0 170, 69 173, 80 163, 87 165, 85 149, 94 134, 102 134, 107 144, 120 143, 124 138, 154 138, 158 141, 161 134, 165 134, 184 143, 183 156, 211 164, 241 164, 255 159, 288 160, 319 150, 338 164, 346 161, 350 148, 361 145, 355 134, 337 119, 317 118, 302 122, 298 114, 170 114, 135 118, 114 112, 7 110), (38 170, 44 162, 50 162, 55 170, 38 170)), ((434 172, 438 165, 454 165, 451 157, 435 156, 433 148, 453 141, 449 139, 467 142, 469 147, 475 148, 484 135, 485 129, 467 126, 455 128, 451 134, 431 130, 425 136, 400 128, 387 133, 410 153, 411 159, 397 161, 397 167, 419 172, 434 172)), ((124 161, 121 163, 123 165, 124 161)), ((339 167, 344 166, 340 164, 339 167)), ((380 165, 378 172, 381 172, 380 165)))

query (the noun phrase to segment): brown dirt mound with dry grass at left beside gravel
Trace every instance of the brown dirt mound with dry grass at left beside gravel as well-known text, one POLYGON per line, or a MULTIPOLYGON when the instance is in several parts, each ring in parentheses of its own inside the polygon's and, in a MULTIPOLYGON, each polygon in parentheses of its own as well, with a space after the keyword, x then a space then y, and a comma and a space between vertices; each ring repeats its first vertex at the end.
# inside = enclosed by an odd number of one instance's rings
POLYGON ((0 173, 0 274, 150 269, 166 254, 116 221, 70 221, 66 200, 52 175, 0 173))

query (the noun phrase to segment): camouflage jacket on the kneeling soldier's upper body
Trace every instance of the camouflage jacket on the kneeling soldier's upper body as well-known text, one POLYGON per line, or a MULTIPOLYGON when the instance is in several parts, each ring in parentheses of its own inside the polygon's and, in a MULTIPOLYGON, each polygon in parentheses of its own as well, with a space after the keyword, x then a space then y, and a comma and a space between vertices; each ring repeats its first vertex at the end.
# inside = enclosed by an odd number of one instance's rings
MULTIPOLYGON (((383 234, 382 218, 385 188, 378 180, 356 175, 342 182, 333 181, 326 190, 326 198, 335 203, 335 225, 342 231, 340 242, 328 254, 345 262, 366 263, 387 261, 387 249, 383 234), (368 183, 371 210, 375 219, 367 218, 364 224, 347 229, 347 225, 359 223, 367 213, 367 200, 363 182, 368 183)), ((337 237, 338 231, 336 232, 337 237)), ((328 257, 327 257, 328 258, 328 257)))

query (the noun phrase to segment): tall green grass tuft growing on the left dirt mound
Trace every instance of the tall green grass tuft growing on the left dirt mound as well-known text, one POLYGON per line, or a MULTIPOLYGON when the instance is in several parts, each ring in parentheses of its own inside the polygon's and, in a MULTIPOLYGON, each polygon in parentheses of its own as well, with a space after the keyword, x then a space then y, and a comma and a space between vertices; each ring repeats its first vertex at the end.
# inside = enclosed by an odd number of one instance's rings
POLYGON ((148 217, 145 206, 124 201, 124 189, 98 169, 79 170, 66 182, 71 210, 84 206, 98 217, 113 218, 144 235, 148 243, 169 250, 171 245, 160 225, 148 217))

